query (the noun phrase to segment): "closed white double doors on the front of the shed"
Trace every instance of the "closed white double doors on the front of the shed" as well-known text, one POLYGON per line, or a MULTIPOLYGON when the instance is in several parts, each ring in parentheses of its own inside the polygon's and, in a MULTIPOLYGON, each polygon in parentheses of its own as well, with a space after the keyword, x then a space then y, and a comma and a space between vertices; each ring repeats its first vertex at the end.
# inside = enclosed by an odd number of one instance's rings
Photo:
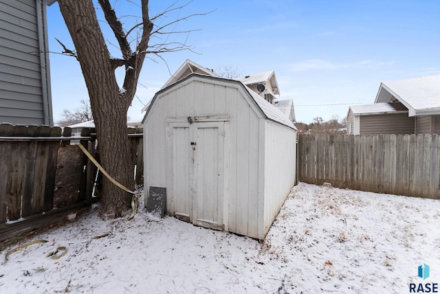
POLYGON ((224 124, 168 123, 173 212, 212 229, 223 229, 224 124))

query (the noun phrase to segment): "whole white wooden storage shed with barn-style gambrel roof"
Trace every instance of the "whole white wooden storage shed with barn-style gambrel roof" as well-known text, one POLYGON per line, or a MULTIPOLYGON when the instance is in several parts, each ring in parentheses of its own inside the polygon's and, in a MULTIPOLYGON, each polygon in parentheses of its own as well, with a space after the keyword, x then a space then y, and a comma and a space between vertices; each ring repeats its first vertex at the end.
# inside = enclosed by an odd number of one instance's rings
POLYGON ((239 81, 190 74, 155 94, 143 125, 144 187, 166 188, 168 215, 265 237, 295 182, 289 117, 239 81))

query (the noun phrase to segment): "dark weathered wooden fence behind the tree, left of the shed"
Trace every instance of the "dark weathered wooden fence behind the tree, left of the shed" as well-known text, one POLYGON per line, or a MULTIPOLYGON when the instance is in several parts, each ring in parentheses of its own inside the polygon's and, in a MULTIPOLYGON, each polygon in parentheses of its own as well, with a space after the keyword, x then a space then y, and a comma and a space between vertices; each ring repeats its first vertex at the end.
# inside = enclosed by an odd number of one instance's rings
MULTIPOLYGON (((97 156, 93 128, 70 137, 70 128, 0 124, 0 241, 54 223, 91 203, 96 168, 78 146, 97 156)), ((143 183, 142 128, 130 128, 131 162, 143 183)))

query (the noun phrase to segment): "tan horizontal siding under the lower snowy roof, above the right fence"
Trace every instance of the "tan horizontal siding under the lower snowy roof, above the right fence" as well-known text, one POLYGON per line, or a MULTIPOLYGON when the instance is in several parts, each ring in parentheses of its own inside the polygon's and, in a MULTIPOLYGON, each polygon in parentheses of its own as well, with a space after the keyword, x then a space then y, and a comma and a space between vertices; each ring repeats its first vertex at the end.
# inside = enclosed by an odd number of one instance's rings
POLYGON ((414 117, 406 113, 388 115, 361 115, 360 135, 414 134, 414 117))

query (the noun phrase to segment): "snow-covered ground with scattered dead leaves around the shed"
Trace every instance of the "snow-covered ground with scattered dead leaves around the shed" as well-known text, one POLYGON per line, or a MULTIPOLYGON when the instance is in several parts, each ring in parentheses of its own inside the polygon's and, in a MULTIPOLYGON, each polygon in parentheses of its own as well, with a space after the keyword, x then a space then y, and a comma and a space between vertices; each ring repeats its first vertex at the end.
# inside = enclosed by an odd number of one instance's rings
POLYGON ((440 201, 305 183, 263 242, 144 210, 104 221, 96 209, 36 239, 50 242, 8 261, 17 245, 1 252, 0 293, 409 293, 409 283, 440 283, 440 201), (59 246, 65 256, 46 258, 59 246))

